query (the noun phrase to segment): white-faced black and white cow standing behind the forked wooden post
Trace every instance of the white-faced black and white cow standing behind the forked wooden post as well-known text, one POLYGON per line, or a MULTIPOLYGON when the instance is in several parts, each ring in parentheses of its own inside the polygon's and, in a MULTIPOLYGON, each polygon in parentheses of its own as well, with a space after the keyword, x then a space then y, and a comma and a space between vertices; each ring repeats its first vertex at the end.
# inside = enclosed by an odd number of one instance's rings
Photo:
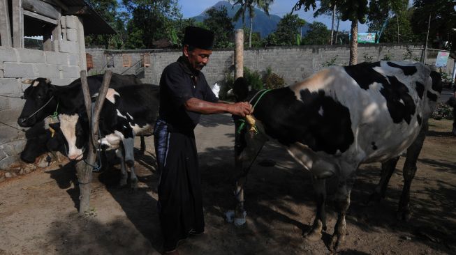
MULTIPOLYGON (((96 94, 94 95, 96 97, 96 94)), ((152 135, 153 127, 159 111, 159 86, 152 84, 133 84, 121 88, 109 88, 101 109, 98 143, 105 149, 116 151, 121 160, 122 178, 120 185, 127 183, 130 169, 131 187, 138 185, 134 172, 135 158, 133 143, 135 136, 152 135)), ((89 121, 87 114, 59 114, 59 128, 68 143, 68 157, 81 160, 84 147, 89 138, 89 121)))

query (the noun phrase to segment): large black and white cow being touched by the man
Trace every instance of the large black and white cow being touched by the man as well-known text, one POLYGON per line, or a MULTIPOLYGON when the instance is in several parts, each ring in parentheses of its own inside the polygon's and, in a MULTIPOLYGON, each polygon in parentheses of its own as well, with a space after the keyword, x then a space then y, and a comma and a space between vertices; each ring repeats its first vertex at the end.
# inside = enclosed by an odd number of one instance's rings
POLYGON ((258 132, 244 130, 236 138, 236 167, 242 177, 235 190, 235 223, 245 222, 248 167, 268 139, 283 144, 313 176, 317 210, 306 235, 309 240, 321 239, 326 229, 325 178, 338 176, 339 180, 338 219, 330 243, 334 250, 344 240, 356 169, 363 163, 383 162, 382 180, 374 197, 383 196, 397 158, 408 148, 399 215, 409 217, 409 189, 416 160, 427 120, 441 93, 441 77, 434 68, 392 61, 332 67, 292 86, 256 95, 248 93, 244 83, 238 79, 233 90, 237 100, 256 103, 253 118, 247 120, 258 132))

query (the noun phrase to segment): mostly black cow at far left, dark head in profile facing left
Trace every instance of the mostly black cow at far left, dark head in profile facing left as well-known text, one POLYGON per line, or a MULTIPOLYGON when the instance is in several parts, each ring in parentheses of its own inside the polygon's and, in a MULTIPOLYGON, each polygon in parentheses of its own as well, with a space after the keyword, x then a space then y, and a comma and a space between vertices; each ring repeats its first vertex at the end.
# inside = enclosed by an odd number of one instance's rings
MULTIPOLYGON (((26 101, 17 119, 17 123, 21 127, 32 127, 34 130, 41 130, 43 132, 39 140, 38 137, 35 137, 33 141, 27 141, 27 144, 34 144, 34 146, 26 147, 22 153, 24 155, 24 157, 21 157, 22 160, 25 160, 25 162, 34 162, 38 153, 49 150, 45 144, 54 144, 52 148, 61 148, 61 146, 64 146, 64 144, 55 144, 60 141, 59 139, 45 140, 46 137, 50 137, 50 131, 43 130, 43 125, 39 123, 44 121, 45 118, 54 115, 54 113, 68 114, 75 111, 84 111, 84 95, 82 93, 80 79, 76 79, 67 86, 53 85, 50 79, 46 78, 27 80, 24 83, 31 85, 24 91, 24 99, 26 101), (34 125, 38 126, 34 127, 34 125)), ((93 95, 101 87, 103 75, 89 76, 87 77, 87 83, 89 85, 89 91, 93 95)), ((140 79, 134 75, 118 75, 113 73, 110 87, 119 88, 129 84, 140 83, 140 79)), ((57 115, 54 118, 57 118, 57 115)), ((141 139, 141 150, 145 150, 144 139, 141 139)))

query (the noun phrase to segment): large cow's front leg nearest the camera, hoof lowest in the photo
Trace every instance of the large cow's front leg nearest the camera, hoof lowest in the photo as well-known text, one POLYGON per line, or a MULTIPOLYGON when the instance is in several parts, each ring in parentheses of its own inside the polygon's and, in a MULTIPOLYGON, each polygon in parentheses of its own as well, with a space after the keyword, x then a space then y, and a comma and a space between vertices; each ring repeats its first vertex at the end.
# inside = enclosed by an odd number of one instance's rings
POLYGON ((330 251, 337 252, 337 249, 340 247, 341 243, 345 240, 346 235, 346 221, 345 215, 350 206, 350 194, 351 187, 355 182, 355 169, 350 169, 349 176, 346 180, 339 181, 337 187, 337 196, 336 196, 336 210, 337 210, 337 222, 334 226, 334 233, 332 234, 330 251))

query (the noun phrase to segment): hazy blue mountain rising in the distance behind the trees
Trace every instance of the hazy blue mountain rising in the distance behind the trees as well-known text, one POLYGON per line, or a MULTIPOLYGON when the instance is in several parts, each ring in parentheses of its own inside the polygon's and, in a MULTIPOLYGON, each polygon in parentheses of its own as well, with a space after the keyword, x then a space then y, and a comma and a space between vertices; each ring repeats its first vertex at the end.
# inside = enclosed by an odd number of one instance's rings
MULTIPOLYGON (((221 8, 223 6, 226 7, 228 17, 231 18, 233 18, 237 10, 240 9, 240 6, 235 6, 233 8, 233 5, 228 1, 219 1, 210 8, 221 8)), ((209 8, 206 10, 209 10, 209 8)), ((207 17, 206 10, 203 11, 203 13, 200 15, 192 18, 198 22, 203 22, 203 20, 205 20, 205 17, 207 17)), ((280 20, 281 17, 277 15, 270 14, 268 17, 267 14, 263 12, 263 10, 255 8, 255 15, 253 16, 253 32, 260 32, 260 36, 264 38, 276 30, 277 24, 279 24, 280 20)), ((233 25, 235 26, 235 29, 242 29, 242 19, 238 20, 237 22, 233 22, 233 25)), ((246 13, 245 15, 245 26, 250 27, 249 13, 246 13)))

